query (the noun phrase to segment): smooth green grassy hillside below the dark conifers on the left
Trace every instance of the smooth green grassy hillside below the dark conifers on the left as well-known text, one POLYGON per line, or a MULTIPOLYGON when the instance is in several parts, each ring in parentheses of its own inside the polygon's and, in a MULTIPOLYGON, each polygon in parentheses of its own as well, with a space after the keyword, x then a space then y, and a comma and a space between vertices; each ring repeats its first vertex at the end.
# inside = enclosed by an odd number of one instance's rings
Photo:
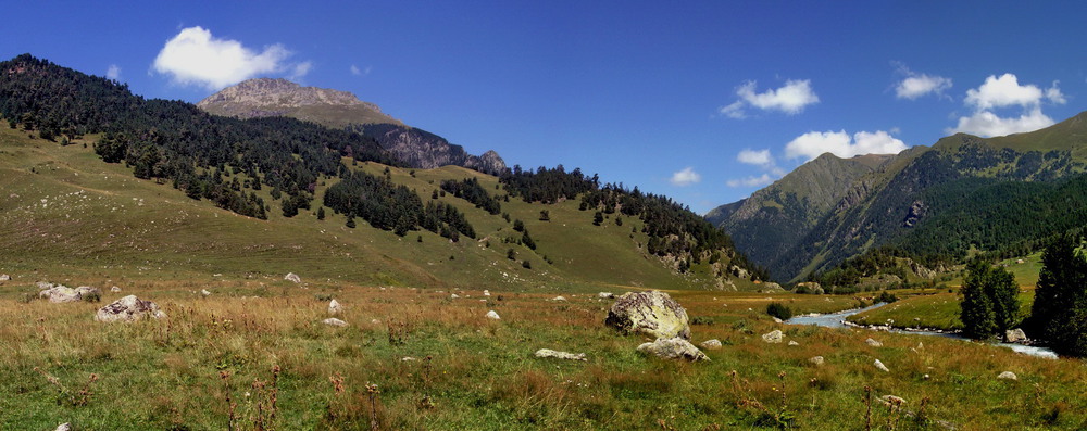
MULTIPOLYGON (((646 238, 632 232, 636 219, 622 227, 614 220, 592 226, 591 212, 577 211, 576 202, 503 203, 511 220, 523 220, 536 239, 535 252, 503 243, 504 238, 520 238, 511 223, 451 195, 439 199, 467 215, 478 241, 463 238, 451 243, 427 231, 401 238, 362 220, 349 229, 345 217, 328 208, 326 219, 317 220, 321 195, 334 177, 318 181, 313 210, 292 218, 280 215, 268 188, 257 191, 272 203, 265 221, 188 199, 168 183, 133 178, 123 165, 102 163, 92 145, 84 147, 95 138, 61 147, 28 139, 25 131, 0 129, 0 187, 7 194, 0 203, 0 271, 42 280, 146 277, 270 282, 292 271, 309 283, 333 286, 716 288, 707 264, 679 276, 639 250, 646 238), (550 221, 539 221, 545 208, 550 221), (507 258, 510 249, 515 261, 507 258), (525 261, 532 269, 523 267, 525 261)), ((362 163, 357 168, 384 175, 386 166, 362 163)), ((390 168, 395 182, 415 189, 424 199, 441 179, 476 176, 488 190, 497 185, 495 177, 460 167, 415 170, 414 177, 411 173, 390 168)), ((751 287, 746 283, 735 281, 741 289, 751 287)))

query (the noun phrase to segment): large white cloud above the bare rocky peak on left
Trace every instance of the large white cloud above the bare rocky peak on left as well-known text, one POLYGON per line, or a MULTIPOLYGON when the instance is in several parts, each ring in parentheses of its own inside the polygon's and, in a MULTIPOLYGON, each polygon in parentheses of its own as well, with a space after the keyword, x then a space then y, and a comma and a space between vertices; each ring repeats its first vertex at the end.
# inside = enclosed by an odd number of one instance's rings
POLYGON ((197 26, 184 28, 167 40, 152 68, 170 75, 177 84, 217 90, 260 74, 286 71, 292 78, 300 78, 312 64, 288 65, 286 59, 290 54, 279 43, 258 52, 237 40, 215 38, 210 30, 197 26))

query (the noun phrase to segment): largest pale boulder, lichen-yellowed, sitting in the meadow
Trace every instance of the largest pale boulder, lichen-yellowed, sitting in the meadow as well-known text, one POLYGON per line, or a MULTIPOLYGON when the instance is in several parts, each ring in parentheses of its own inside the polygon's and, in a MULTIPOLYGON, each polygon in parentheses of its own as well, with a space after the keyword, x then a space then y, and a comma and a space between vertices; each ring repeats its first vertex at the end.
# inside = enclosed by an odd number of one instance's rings
POLYGON ((604 324, 624 332, 639 332, 654 339, 690 340, 687 310, 661 291, 629 292, 620 296, 608 312, 604 324))

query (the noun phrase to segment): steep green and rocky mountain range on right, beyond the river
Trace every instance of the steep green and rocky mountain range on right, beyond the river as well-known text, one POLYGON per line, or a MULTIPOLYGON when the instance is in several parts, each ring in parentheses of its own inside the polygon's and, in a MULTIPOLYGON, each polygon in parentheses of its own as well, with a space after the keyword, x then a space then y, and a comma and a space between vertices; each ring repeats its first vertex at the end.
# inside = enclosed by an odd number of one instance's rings
POLYGON ((1087 225, 1087 113, 1007 137, 957 134, 894 156, 823 155, 707 218, 773 278, 880 246, 958 261, 1087 225))

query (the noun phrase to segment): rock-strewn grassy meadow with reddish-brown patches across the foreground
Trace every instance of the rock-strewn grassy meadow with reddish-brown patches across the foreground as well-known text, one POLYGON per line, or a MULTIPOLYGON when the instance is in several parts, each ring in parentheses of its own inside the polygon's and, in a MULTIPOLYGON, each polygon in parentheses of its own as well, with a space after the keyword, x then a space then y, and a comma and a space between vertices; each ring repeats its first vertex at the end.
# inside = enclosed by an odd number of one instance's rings
POLYGON ((109 292, 108 280, 58 279, 105 293, 102 303, 51 304, 20 301, 38 280, 15 276, 0 286, 4 429, 370 429, 372 420, 380 429, 1087 426, 1080 360, 784 326, 765 314, 772 301, 826 313, 851 307, 852 297, 673 292, 700 324, 691 341, 724 344, 707 351, 712 360, 688 364, 636 353, 642 338, 604 327, 611 301, 595 293, 554 301, 554 293, 278 279, 129 280, 109 292), (93 320, 98 307, 127 294, 155 301, 170 317, 93 320), (330 297, 345 305, 348 327, 322 325, 330 297), (489 310, 501 319, 485 317, 489 310), (774 329, 785 342, 763 342, 774 329), (588 360, 536 358, 539 348, 588 360), (824 365, 809 360, 816 355, 824 365), (1003 371, 1019 380, 997 379, 1003 371), (885 405, 884 395, 904 403, 885 405))

